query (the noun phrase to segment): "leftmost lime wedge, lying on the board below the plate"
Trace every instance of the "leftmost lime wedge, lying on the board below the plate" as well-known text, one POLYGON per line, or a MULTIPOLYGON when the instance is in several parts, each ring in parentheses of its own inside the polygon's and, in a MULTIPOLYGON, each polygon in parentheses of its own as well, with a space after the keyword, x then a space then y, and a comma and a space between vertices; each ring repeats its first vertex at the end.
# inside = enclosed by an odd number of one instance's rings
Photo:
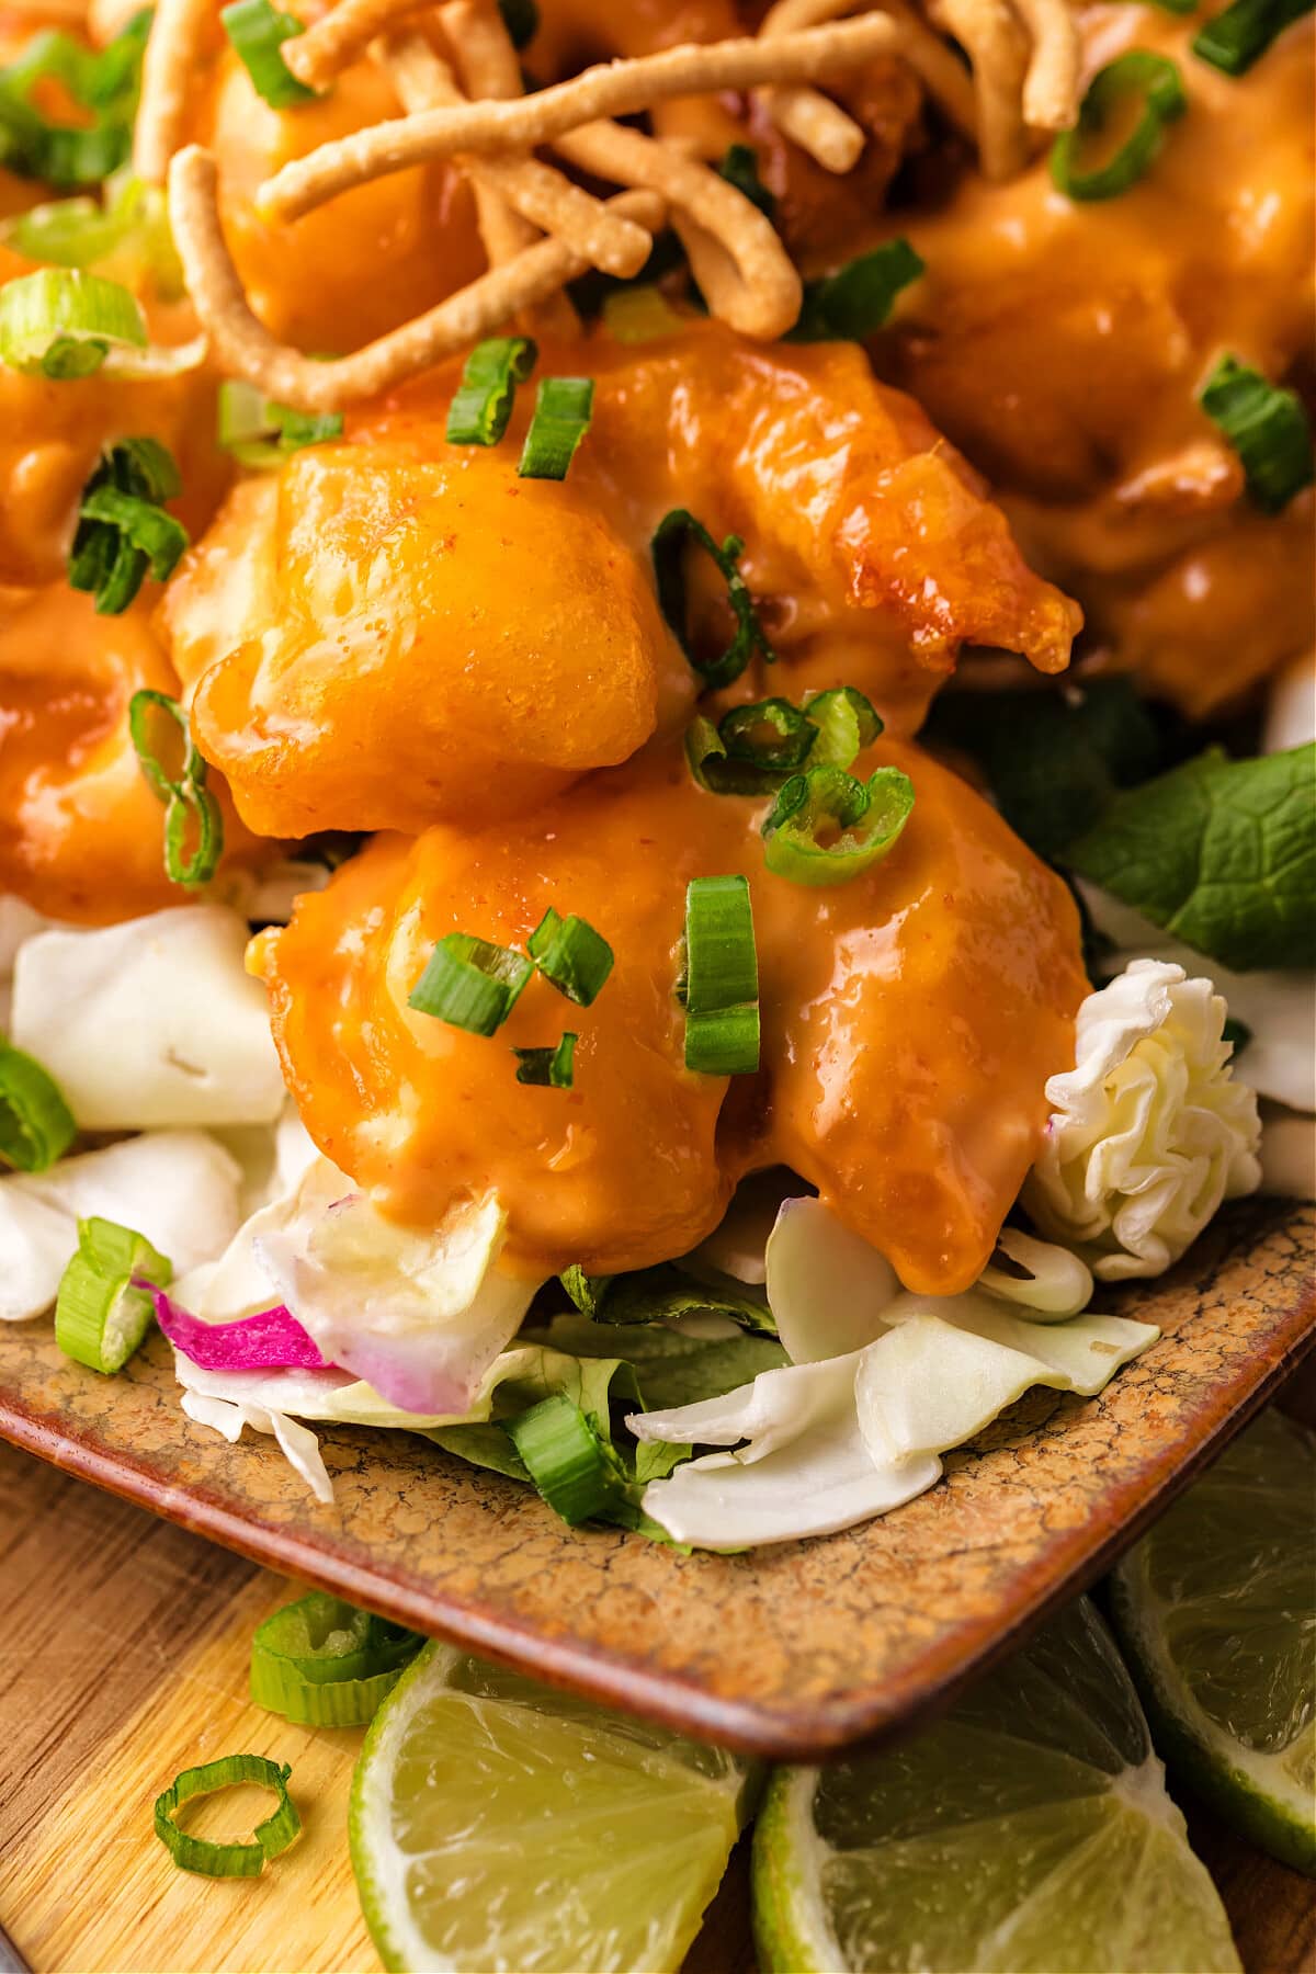
POLYGON ((748 1765, 428 1644, 357 1761, 351 1861, 389 1968, 679 1968, 748 1765))

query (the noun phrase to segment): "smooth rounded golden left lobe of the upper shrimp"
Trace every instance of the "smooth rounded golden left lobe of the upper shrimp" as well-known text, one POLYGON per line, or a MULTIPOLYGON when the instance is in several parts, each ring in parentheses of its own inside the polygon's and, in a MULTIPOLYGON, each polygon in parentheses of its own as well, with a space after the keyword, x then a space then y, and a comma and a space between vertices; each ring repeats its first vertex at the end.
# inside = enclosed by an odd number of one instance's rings
POLYGON ((442 426, 241 488, 164 622, 201 750, 260 835, 513 815, 689 697, 606 511, 442 426))

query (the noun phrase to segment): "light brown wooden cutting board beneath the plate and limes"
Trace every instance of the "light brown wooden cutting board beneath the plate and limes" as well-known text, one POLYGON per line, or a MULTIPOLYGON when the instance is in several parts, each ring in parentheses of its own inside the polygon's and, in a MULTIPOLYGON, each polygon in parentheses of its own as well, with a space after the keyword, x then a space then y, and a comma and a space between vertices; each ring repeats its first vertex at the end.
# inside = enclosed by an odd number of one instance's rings
MULTIPOLYGON (((251 1632, 290 1595, 282 1577, 0 1445, 0 1927, 37 1974, 379 1966, 345 1836, 361 1735, 292 1727, 245 1698, 251 1632), (292 1763, 306 1834, 264 1877, 211 1883, 172 1865, 152 1802, 180 1769, 239 1749, 292 1763)), ((1190 1824, 1247 1974, 1316 1966, 1312 1885, 1209 1820, 1190 1824)), ((752 1968, 738 1856, 687 1974, 752 1968)))

